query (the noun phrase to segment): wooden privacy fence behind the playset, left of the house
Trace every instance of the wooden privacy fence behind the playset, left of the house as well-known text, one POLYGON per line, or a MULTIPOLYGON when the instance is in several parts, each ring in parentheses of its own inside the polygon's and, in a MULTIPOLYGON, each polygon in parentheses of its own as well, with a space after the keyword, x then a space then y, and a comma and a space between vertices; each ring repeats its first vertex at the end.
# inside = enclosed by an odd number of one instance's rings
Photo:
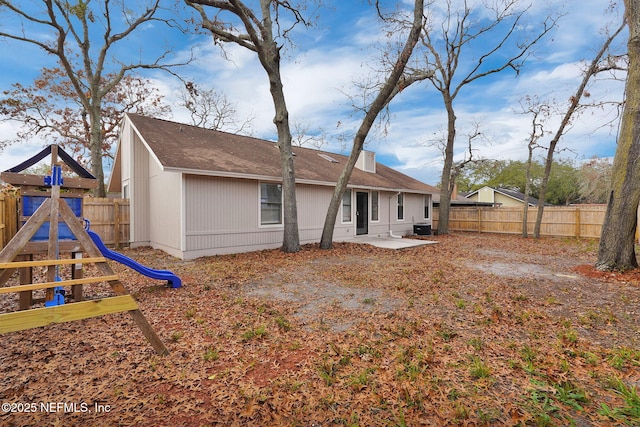
MULTIPOLYGON (((0 194, 0 249, 18 231, 18 197, 0 194)), ((129 200, 85 197, 83 216, 91 229, 109 246, 129 244, 129 200)))

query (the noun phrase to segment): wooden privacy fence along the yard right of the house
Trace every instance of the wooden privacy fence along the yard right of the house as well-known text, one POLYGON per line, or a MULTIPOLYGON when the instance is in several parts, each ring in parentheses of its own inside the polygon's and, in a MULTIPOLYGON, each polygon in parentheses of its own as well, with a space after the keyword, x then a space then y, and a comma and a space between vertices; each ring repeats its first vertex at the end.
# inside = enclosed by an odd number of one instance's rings
MULTIPOLYGON (((557 237, 600 238, 605 205, 547 206, 542 214, 540 235, 557 237)), ((450 231, 522 234, 522 207, 452 207, 450 231)), ((538 208, 529 208, 527 232, 533 234, 538 208)), ((434 228, 438 226, 438 210, 434 209, 434 228)))

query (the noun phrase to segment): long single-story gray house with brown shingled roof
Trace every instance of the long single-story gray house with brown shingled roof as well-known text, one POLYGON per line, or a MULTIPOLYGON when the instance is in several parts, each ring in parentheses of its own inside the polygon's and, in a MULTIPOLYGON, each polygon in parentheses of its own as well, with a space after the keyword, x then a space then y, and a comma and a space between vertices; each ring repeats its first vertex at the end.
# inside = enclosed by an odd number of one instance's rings
MULTIPOLYGON (((347 157, 294 148, 300 242, 319 242, 347 157)), ((277 248, 283 212, 273 142, 127 114, 109 183, 130 199, 130 244, 182 259, 277 248)), ((438 190, 364 151, 349 181, 334 241, 399 236, 431 224, 438 190)))

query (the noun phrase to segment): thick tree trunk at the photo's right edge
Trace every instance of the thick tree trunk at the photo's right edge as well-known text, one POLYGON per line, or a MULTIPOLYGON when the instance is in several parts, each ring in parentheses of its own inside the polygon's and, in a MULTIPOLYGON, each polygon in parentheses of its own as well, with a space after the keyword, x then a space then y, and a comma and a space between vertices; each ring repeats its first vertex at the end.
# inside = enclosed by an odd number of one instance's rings
POLYGON ((625 6, 629 25, 626 102, 600 236, 596 262, 599 270, 638 267, 635 234, 640 203, 640 6, 634 0, 625 0, 625 6))

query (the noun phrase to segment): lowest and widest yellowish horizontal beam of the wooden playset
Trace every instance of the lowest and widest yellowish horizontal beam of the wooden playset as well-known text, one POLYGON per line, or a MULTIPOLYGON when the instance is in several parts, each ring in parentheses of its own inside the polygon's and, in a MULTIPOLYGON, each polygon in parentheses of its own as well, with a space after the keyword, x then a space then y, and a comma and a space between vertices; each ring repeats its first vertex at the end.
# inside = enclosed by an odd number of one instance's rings
POLYGON ((0 334, 123 311, 139 311, 131 295, 0 314, 0 334))

